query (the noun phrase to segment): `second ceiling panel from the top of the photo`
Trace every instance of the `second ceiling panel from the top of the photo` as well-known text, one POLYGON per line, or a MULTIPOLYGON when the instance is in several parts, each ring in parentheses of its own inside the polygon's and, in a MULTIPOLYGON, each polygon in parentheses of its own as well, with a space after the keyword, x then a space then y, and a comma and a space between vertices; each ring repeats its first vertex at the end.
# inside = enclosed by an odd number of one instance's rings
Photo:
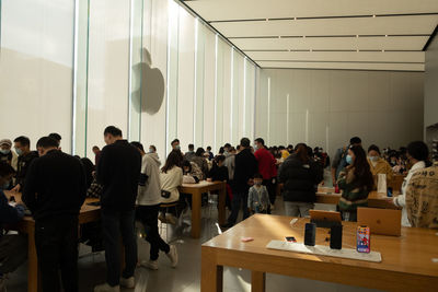
MULTIPOLYGON (((438 1, 438 0, 437 0, 438 1)), ((431 34, 438 15, 212 23, 226 37, 431 34)))

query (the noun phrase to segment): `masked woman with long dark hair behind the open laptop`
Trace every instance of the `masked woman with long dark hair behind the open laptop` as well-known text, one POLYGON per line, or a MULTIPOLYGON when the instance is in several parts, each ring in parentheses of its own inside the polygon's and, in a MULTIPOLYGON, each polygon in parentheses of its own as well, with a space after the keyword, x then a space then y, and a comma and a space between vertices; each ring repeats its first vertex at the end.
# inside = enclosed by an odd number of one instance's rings
POLYGON ((339 173, 337 185, 343 190, 338 209, 344 221, 357 221, 357 207, 368 206, 368 195, 374 186, 374 179, 360 145, 348 148, 348 165, 339 173))

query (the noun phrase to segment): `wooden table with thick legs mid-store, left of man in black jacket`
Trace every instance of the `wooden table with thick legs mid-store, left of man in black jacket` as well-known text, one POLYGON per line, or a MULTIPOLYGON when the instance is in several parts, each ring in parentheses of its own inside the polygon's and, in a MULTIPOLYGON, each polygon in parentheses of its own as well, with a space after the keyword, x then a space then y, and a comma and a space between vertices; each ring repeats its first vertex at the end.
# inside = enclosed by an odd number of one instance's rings
POLYGON ((219 190, 219 210, 218 221, 219 224, 226 222, 226 196, 227 184, 224 182, 207 182, 201 180, 198 184, 183 184, 178 188, 182 194, 192 195, 192 237, 200 237, 200 209, 201 209, 201 195, 212 190, 219 190))

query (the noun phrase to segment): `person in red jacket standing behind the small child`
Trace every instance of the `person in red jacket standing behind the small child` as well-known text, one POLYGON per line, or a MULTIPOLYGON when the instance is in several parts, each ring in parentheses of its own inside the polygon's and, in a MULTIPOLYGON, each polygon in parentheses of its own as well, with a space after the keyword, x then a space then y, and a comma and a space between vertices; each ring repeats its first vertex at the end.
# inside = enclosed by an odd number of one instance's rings
POLYGON ((267 188, 269 194, 269 213, 270 210, 274 209, 275 203, 275 179, 277 178, 277 160, 274 155, 266 149, 265 141, 262 138, 255 139, 255 147, 256 150, 254 153, 255 159, 258 163, 258 173, 263 176, 263 185, 267 188))

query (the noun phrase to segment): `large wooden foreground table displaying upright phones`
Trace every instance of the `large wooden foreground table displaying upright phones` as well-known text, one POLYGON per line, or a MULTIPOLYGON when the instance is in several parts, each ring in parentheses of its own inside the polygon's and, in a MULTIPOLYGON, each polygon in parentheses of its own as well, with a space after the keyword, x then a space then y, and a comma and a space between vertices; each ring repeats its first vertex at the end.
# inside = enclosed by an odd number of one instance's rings
MULTIPOLYGON (((303 242, 304 223, 291 226, 290 217, 256 214, 201 246, 201 292, 222 291, 223 266, 252 271, 252 291, 265 291, 266 272, 388 291, 436 291, 438 236, 435 230, 402 227, 402 236, 371 236, 371 248, 382 262, 333 258, 266 248, 272 240, 295 236, 303 242), (242 243, 242 237, 253 242, 242 243)), ((355 248, 356 223, 343 222, 343 246, 355 248)), ((328 230, 318 229, 316 244, 328 230)))

